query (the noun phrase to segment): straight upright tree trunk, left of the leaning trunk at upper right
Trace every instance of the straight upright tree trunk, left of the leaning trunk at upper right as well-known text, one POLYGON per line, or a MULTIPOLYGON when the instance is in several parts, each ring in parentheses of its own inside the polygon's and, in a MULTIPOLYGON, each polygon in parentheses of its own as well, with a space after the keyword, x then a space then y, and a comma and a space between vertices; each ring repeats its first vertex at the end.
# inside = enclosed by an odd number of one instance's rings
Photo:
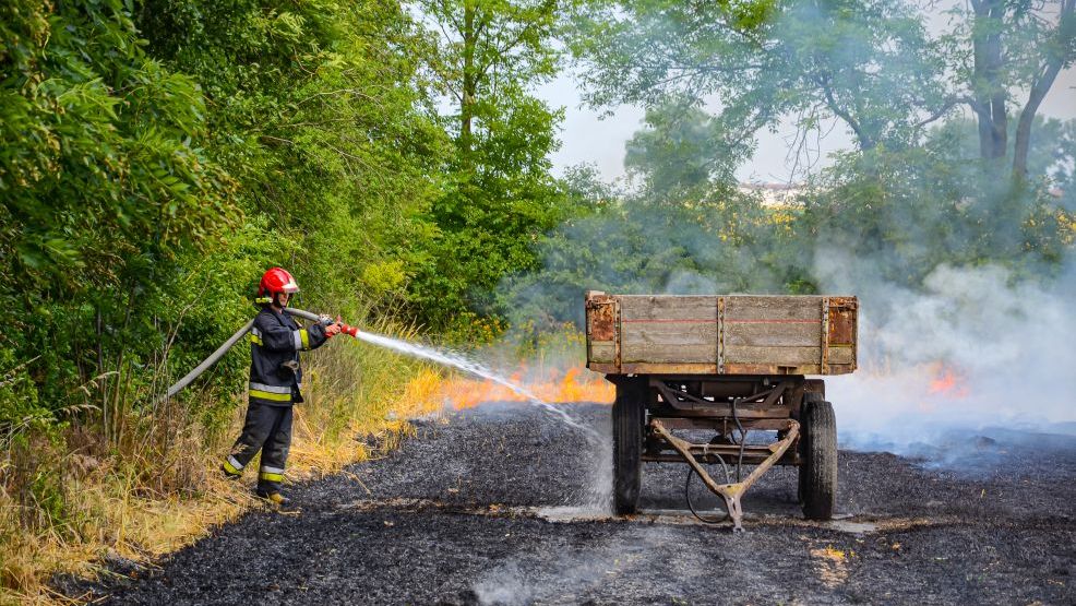
POLYGON ((1008 145, 1007 94, 1001 83, 1003 64, 1002 20, 1005 0, 972 0, 975 10, 975 50, 972 86, 976 117, 979 121, 979 154, 983 159, 1005 157, 1008 145))

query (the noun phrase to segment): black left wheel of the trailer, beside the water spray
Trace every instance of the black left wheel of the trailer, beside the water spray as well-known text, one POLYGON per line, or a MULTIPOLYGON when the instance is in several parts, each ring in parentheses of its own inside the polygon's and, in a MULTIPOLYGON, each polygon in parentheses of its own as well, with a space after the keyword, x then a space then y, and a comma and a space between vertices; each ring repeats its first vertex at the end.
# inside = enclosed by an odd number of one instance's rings
POLYGON ((635 513, 638 506, 646 387, 645 379, 622 379, 612 405, 613 504, 621 515, 635 513))

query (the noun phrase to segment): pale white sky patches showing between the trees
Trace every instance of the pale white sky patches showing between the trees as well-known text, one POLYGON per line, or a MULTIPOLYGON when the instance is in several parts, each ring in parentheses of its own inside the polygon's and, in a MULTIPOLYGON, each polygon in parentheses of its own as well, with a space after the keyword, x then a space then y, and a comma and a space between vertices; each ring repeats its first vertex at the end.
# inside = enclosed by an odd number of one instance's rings
MULTIPOLYGON (((944 28, 940 13, 931 16, 929 28, 944 28)), ((563 107, 564 121, 561 123, 561 148, 553 154, 553 168, 557 175, 570 166, 593 164, 606 180, 624 176, 624 144, 642 126, 643 109, 633 106, 613 108, 611 116, 601 117, 602 110, 582 105, 576 80, 571 73, 562 73, 552 82, 541 86, 540 97, 553 107, 563 107)), ((1076 69, 1063 71, 1050 94, 1043 100, 1040 115, 1052 118, 1076 118, 1076 69)), ((851 148, 852 138, 844 123, 834 122, 821 140, 810 141, 814 150, 806 163, 817 170, 826 166, 826 156, 837 150, 851 148)), ((796 129, 790 121, 781 123, 776 133, 761 131, 757 148, 750 162, 737 171, 741 181, 746 182, 790 182, 796 158, 789 157, 791 140, 796 129)), ((800 171, 804 161, 800 159, 800 171)))

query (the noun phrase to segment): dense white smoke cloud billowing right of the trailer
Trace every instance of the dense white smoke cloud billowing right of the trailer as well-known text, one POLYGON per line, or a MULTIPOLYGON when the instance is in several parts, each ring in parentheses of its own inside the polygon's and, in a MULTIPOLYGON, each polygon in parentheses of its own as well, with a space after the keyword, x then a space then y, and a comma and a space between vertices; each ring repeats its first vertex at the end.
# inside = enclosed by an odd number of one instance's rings
POLYGON ((912 290, 878 280, 874 259, 833 250, 815 259, 825 292, 860 298, 860 369, 826 380, 842 448, 938 460, 960 444, 989 445, 976 437, 997 428, 1072 430, 1072 263, 1054 280, 940 265, 912 290))

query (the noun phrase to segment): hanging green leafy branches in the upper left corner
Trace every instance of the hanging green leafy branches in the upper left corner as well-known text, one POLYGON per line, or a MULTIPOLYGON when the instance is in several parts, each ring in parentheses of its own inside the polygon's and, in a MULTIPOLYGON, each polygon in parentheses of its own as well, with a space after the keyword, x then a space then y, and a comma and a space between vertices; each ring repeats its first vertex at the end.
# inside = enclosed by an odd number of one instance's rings
POLYGON ((19 226, 4 233, 25 263, 12 268, 17 288, 55 280, 80 296, 109 286, 65 275, 99 259, 106 241, 105 250, 201 246, 215 231, 207 226, 227 223, 227 187, 180 139, 202 128, 193 82, 142 54, 123 4, 63 7, 5 20, 9 32, 36 34, 7 46, 22 78, 2 85, 0 191, 19 226))

